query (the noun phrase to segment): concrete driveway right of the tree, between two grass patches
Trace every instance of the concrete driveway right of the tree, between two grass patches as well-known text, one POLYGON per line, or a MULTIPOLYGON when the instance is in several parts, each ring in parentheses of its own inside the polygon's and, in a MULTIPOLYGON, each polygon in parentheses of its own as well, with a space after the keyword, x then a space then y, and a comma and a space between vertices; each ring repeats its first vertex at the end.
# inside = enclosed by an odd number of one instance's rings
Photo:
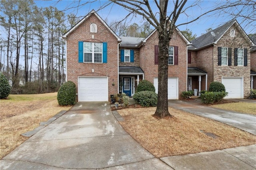
MULTIPOLYGON (((239 101, 247 102, 242 99, 239 99, 239 101)), ((255 100, 252 101, 254 103, 255 100)), ((168 105, 175 109, 207 117, 256 135, 256 115, 204 106, 201 105, 200 99, 196 99, 196 101, 169 100, 168 105)))

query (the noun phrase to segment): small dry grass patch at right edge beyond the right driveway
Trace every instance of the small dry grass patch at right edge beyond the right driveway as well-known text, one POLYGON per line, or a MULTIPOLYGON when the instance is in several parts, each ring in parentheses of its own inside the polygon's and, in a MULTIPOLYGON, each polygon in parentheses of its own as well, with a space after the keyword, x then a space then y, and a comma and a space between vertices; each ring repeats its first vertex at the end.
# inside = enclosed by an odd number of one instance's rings
POLYGON ((220 104, 220 105, 211 105, 210 107, 216 107, 216 108, 225 109, 229 111, 236 111, 240 113, 248 113, 248 114, 256 115, 255 103, 236 102, 236 103, 226 103, 226 104, 220 104))

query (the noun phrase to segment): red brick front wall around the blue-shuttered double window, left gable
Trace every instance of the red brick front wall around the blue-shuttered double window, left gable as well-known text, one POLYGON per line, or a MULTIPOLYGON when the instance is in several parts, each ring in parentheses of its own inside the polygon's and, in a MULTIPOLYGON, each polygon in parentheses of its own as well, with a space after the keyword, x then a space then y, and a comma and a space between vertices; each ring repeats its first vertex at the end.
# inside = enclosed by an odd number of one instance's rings
POLYGON ((110 94, 118 93, 118 67, 117 67, 117 45, 116 37, 92 14, 67 38, 67 81, 73 81, 78 88, 78 76, 102 76, 108 77, 108 97, 110 94), (97 25, 97 33, 90 33, 90 24, 97 25), (92 38, 94 35, 94 39, 92 38), (84 42, 107 42, 107 63, 78 63, 78 41, 84 42), (92 73, 94 69, 94 73, 92 73), (114 81, 113 81, 114 79, 114 81), (112 86, 112 83, 115 86, 112 86))

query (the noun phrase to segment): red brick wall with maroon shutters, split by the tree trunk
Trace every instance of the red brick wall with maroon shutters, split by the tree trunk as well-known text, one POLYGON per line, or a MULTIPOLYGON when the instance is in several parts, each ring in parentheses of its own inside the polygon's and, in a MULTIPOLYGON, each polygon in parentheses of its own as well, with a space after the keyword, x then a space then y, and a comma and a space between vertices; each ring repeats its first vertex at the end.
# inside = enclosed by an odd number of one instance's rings
MULTIPOLYGON (((145 73, 144 78, 152 83, 154 83, 154 77, 158 77, 158 65, 154 62, 154 45, 158 45, 157 32, 154 32, 140 48, 140 67, 145 73)), ((174 32, 170 46, 178 46, 178 65, 169 65, 168 77, 178 77, 178 93, 181 98, 181 92, 186 91, 187 88, 187 45, 180 35, 174 32)))

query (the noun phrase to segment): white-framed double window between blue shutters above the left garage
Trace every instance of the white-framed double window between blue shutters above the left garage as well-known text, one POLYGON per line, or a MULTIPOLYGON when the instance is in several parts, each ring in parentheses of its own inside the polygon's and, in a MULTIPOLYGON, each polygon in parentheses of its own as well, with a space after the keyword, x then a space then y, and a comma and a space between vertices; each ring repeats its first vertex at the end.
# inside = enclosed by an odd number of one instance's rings
POLYGON ((102 43, 84 42, 84 63, 102 63, 102 43))

